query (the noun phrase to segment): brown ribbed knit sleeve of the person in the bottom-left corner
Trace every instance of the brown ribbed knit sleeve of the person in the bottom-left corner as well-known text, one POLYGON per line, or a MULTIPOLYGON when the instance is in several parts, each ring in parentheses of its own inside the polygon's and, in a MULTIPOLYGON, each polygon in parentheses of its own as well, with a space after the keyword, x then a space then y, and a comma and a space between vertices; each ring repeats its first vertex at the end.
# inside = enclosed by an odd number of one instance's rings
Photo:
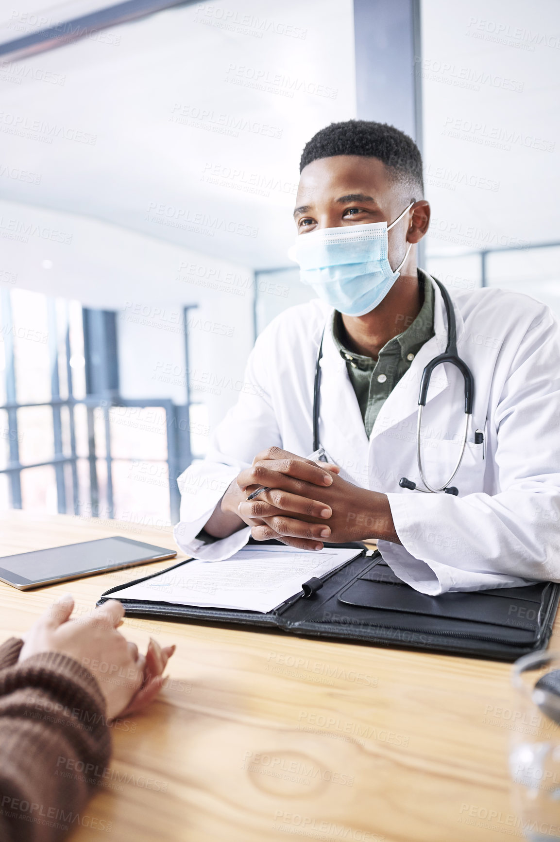
POLYGON ((107 830, 83 812, 110 757, 98 682, 60 653, 17 663, 22 646, 11 638, 0 647, 0 840, 53 842, 82 824, 107 830))

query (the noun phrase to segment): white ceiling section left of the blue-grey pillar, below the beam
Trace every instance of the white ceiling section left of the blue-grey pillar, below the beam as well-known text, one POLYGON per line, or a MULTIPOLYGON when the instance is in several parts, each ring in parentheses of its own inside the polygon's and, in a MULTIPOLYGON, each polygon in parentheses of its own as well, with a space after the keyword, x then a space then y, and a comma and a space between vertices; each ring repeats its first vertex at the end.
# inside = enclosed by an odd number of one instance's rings
POLYGON ((264 11, 258 0, 225 0, 105 36, 119 43, 86 39, 20 62, 62 83, 29 74, 18 84, 15 73, 1 83, 3 111, 19 125, 39 120, 95 138, 45 143, 4 131, 3 160, 41 176, 40 184, 2 179, 4 197, 239 264, 287 264, 304 143, 355 115, 351 0, 288 0, 264 11), (222 20, 204 13, 209 6, 241 23, 214 25, 222 20), (223 184, 206 180, 214 172, 223 184))

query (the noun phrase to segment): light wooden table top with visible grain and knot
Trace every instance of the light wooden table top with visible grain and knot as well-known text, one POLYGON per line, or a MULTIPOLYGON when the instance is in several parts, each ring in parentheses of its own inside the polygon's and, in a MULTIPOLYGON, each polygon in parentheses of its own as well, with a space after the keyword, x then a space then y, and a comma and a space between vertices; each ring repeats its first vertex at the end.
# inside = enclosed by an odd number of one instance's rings
MULTIPOLYGON (((0 515, 3 555, 113 535, 174 547, 169 530, 0 515)), ((56 594, 70 590, 88 611, 108 588, 172 563, 27 593, 0 583, 0 640, 56 594)), ((158 700, 114 728, 114 771, 87 807, 96 829, 72 840, 520 837, 508 664, 135 618, 122 631, 144 648, 150 635, 177 642, 177 653, 158 700)))

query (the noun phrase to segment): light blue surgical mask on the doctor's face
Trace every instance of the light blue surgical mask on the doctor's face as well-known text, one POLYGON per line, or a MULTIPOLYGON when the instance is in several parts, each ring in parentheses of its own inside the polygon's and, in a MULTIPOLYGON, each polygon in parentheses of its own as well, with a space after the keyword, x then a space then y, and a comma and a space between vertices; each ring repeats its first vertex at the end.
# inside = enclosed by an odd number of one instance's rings
POLYGON ((299 264, 300 278, 331 307, 347 316, 363 316, 378 306, 399 277, 410 246, 397 269, 388 258, 387 222, 323 228, 300 234, 288 255, 299 264))

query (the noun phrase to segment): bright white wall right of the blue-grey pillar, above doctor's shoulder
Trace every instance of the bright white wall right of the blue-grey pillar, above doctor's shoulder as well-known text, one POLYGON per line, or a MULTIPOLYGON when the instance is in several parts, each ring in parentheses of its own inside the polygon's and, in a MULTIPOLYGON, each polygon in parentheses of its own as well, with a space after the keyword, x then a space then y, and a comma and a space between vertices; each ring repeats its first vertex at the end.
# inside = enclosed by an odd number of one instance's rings
MULTIPOLYGON (((427 265, 451 286, 478 285, 480 262, 462 253, 560 239, 557 0, 422 0, 416 70, 433 214, 427 265)), ((488 269, 490 285, 560 315, 557 252, 497 255, 488 269)))

